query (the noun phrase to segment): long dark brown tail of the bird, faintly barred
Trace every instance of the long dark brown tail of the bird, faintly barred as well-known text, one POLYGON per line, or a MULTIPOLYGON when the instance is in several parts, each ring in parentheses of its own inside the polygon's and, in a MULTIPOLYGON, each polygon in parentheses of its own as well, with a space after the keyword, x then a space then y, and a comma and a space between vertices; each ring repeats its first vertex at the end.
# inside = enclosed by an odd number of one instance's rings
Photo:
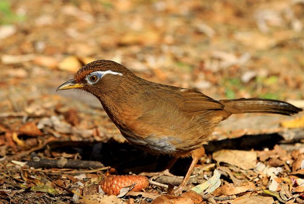
POLYGON ((223 104, 225 106, 224 109, 231 114, 273 113, 290 116, 302 111, 302 109, 289 103, 273 99, 239 98, 233 100, 220 100, 219 102, 223 104))

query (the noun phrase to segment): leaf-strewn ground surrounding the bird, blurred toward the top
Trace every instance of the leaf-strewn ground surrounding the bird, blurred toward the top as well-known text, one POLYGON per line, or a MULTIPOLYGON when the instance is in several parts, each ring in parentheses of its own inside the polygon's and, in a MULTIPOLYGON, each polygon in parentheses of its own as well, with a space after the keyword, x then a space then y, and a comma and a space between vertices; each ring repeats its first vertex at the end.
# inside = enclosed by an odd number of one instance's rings
POLYGON ((181 177, 143 184, 169 156, 129 145, 92 95, 56 92, 96 59, 215 99, 304 108, 304 2, 2 0, 0 203, 304 203, 303 113, 221 123, 187 193, 166 194, 181 177), (102 182, 127 188, 104 195, 102 182))

